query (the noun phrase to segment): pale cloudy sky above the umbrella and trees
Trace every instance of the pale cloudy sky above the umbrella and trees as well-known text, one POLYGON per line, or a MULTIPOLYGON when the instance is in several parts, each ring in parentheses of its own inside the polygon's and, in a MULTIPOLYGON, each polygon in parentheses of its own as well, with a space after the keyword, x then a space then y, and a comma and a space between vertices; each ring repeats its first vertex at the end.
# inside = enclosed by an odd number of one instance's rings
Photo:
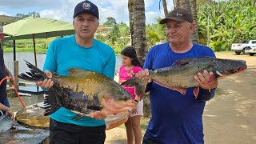
MULTIPOLYGON (((39 12, 42 18, 54 18, 72 22, 74 7, 81 0, 0 0, 0 14, 15 16, 39 12)), ((128 0, 90 0, 98 6, 100 22, 113 17, 117 22, 129 22, 128 0)), ((159 10, 159 0, 145 0, 146 24, 155 23, 158 17, 164 18, 159 10)), ((173 10, 173 0, 166 0, 168 9, 173 10)))

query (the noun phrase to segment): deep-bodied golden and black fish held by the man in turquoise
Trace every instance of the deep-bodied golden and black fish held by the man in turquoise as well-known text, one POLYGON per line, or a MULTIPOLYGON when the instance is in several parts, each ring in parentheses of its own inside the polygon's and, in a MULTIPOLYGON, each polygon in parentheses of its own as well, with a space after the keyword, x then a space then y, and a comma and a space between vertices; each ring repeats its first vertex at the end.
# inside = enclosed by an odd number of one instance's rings
MULTIPOLYGON (((43 81, 46 75, 26 62, 30 72, 19 74, 31 82, 43 81)), ((101 110, 106 115, 116 114, 130 108, 131 95, 114 80, 92 71, 71 68, 68 76, 53 73, 52 86, 45 98, 45 116, 53 114, 60 107, 65 107, 78 114, 78 118, 89 116, 95 110, 101 110)))

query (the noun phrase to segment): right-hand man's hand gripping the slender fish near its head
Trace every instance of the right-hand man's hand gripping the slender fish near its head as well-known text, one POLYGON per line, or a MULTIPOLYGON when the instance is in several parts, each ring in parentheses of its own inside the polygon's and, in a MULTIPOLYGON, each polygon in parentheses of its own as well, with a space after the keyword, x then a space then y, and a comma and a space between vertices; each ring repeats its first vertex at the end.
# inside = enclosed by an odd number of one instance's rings
POLYGON ((196 74, 194 79, 198 82, 199 86, 205 90, 212 90, 218 86, 218 80, 211 71, 208 72, 207 70, 203 70, 202 73, 196 74))

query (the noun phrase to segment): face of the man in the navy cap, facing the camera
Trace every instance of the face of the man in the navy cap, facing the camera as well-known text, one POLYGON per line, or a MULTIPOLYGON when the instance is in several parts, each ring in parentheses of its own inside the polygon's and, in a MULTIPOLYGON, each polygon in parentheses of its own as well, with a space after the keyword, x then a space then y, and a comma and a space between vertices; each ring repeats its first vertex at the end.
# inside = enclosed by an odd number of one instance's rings
POLYGON ((82 39, 94 38, 94 33, 98 29, 98 18, 93 14, 82 13, 78 14, 73 21, 76 35, 82 39))

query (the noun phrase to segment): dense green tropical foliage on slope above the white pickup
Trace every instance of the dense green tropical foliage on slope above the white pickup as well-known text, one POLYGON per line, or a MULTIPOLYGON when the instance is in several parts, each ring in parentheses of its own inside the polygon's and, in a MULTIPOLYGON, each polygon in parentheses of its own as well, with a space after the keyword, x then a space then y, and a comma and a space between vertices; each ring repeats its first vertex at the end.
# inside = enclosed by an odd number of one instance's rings
POLYGON ((198 6, 198 31, 202 44, 215 51, 230 50, 231 43, 256 38, 256 9, 254 1, 230 0, 198 6), (209 25, 208 25, 209 16, 209 25), (207 30, 209 26, 209 38, 207 30))

